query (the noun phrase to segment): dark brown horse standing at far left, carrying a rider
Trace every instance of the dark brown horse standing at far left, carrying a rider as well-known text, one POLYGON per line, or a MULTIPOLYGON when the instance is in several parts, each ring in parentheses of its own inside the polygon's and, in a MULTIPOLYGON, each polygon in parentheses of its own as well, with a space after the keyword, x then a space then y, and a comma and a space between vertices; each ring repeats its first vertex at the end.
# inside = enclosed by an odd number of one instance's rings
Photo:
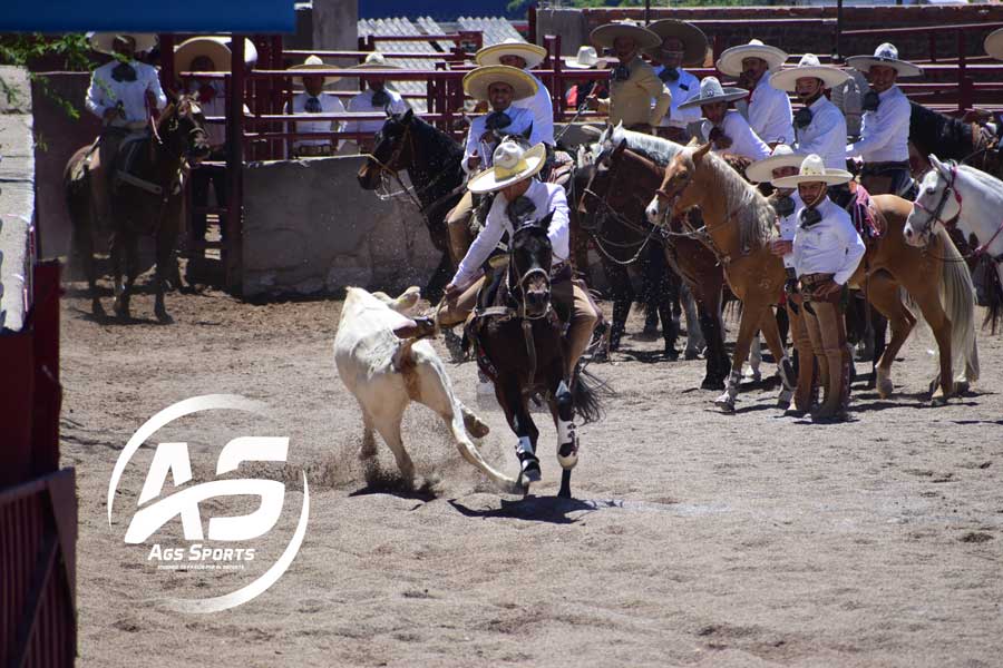
POLYGON ((94 235, 107 232, 100 226, 110 223, 116 315, 124 320, 130 317, 129 297, 139 273, 139 236, 152 234, 156 237, 157 247, 154 311, 157 320, 169 323, 172 318, 164 306, 164 284, 177 275, 174 247, 183 210, 182 179, 187 163, 201 160, 210 154, 202 108, 186 96, 173 101, 160 115, 156 131, 148 138, 123 143, 113 165, 96 165, 95 151, 91 165, 85 166, 84 161, 90 153, 91 147, 85 146, 72 155, 64 170, 64 185, 67 209, 74 225, 74 252, 79 253, 84 261, 91 312, 96 317, 105 316, 95 286, 94 235), (128 165, 129 174, 124 174, 123 149, 128 150, 127 146, 136 153, 128 165), (115 186, 101 191, 106 183, 115 186), (109 198, 109 222, 98 220, 100 197, 109 198))

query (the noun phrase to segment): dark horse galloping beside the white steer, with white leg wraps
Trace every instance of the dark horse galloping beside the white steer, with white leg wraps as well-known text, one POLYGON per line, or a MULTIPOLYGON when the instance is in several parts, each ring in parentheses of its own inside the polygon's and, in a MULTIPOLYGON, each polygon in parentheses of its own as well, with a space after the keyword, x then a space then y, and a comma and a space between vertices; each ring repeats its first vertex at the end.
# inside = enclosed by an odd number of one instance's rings
MULTIPOLYGON (((529 399, 545 397, 557 426, 557 461, 563 469, 558 497, 571 498, 571 472, 578 461, 574 418, 600 419, 602 406, 585 376, 577 370, 565 377, 566 344, 563 326, 551 303, 551 240, 553 212, 523 223, 512 235, 508 267, 498 298, 478 307, 467 325, 476 346, 477 364, 494 381, 495 396, 508 425, 518 436, 519 484, 528 489, 541 479, 537 440, 539 430, 529 414, 529 399)), ((488 281, 485 285, 490 284, 488 281)), ((479 299, 478 299, 479 301, 479 299)))

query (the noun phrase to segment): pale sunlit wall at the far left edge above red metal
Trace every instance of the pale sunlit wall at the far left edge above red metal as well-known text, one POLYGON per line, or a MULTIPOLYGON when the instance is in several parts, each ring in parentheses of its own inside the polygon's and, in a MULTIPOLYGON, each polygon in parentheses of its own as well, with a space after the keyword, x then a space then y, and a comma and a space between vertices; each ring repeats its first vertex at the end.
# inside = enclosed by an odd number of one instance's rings
POLYGON ((28 71, 0 67, 0 331, 19 332, 31 294, 35 156, 28 71))

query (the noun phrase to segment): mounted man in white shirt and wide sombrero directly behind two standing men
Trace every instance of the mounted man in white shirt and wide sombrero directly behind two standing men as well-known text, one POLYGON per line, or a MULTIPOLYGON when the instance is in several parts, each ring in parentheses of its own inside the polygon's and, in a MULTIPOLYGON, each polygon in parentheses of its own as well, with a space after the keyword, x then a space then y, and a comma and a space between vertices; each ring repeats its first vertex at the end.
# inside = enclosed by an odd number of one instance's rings
MULTIPOLYGON (((824 66, 814 53, 805 53, 797 67, 773 72, 770 85, 795 92, 805 105, 795 114, 795 148, 801 155, 818 155, 828 169, 846 168, 846 118, 826 97, 826 89, 843 85, 849 75, 824 66)), ((846 184, 834 185, 828 197, 841 207, 853 199, 846 184)))

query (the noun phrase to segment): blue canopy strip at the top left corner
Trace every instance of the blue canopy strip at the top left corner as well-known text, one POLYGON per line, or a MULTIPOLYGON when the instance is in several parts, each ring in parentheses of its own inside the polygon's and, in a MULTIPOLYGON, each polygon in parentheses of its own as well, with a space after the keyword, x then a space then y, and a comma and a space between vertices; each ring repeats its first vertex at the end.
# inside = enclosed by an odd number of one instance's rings
POLYGON ((0 32, 295 32, 293 0, 0 0, 0 32))

